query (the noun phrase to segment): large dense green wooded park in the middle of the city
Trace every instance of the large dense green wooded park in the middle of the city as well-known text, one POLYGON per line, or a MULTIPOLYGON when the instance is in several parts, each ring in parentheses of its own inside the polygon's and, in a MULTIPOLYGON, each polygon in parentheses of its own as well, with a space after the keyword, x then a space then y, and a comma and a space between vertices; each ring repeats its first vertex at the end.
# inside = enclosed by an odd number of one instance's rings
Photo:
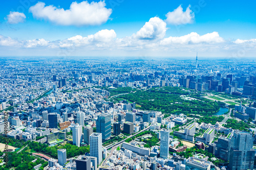
MULTIPOLYGON (((218 102, 200 98, 200 100, 184 100, 181 94, 189 94, 178 87, 164 87, 145 91, 136 91, 120 96, 120 98, 136 102, 143 110, 156 110, 164 113, 175 111, 214 113, 220 109, 218 102)), ((197 97, 195 95, 195 97, 197 97)), ((199 98, 199 97, 198 97, 199 98)))

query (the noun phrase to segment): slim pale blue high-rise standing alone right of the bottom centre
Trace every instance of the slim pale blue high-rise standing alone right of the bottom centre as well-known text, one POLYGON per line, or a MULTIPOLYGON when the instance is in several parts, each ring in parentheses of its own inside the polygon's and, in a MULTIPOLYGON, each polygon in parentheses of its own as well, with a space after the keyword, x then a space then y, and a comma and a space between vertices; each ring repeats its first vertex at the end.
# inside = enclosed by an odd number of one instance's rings
POLYGON ((168 130, 162 130, 160 132, 160 157, 161 158, 168 158, 169 155, 169 136, 170 132, 168 130))

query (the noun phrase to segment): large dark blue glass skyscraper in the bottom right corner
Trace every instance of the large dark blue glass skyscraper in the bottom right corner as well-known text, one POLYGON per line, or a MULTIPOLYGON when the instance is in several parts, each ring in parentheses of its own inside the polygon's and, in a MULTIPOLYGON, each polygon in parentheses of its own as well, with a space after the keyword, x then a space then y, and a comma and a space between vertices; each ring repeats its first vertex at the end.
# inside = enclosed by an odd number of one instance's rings
POLYGON ((253 169, 255 151, 252 146, 252 134, 234 131, 231 138, 228 169, 253 169))

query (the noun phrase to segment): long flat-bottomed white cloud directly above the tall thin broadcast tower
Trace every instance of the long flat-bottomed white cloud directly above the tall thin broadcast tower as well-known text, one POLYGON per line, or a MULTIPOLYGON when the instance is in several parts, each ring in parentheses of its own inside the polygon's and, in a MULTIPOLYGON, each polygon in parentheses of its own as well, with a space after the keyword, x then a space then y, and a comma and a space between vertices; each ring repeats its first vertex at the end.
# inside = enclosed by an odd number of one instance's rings
POLYGON ((160 44, 198 44, 198 43, 222 43, 225 40, 220 37, 218 32, 207 33, 200 36, 198 33, 192 32, 181 37, 168 37, 164 38, 160 44))

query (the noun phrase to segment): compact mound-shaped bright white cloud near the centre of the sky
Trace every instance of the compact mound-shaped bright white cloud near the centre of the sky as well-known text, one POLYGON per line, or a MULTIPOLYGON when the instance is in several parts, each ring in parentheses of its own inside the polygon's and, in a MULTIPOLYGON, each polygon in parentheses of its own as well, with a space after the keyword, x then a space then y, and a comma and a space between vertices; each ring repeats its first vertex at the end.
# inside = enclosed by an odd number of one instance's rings
POLYGON ((148 22, 136 33, 138 39, 161 39, 165 36, 166 23, 159 17, 150 18, 148 22))

